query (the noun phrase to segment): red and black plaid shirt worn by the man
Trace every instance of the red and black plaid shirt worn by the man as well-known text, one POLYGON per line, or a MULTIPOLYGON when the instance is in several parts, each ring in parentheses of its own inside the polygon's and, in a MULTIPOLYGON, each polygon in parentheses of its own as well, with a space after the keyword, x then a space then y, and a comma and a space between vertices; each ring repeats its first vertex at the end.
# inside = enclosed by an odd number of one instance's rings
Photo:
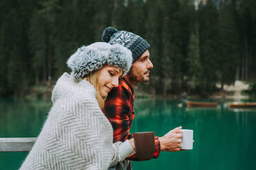
MULTIPOLYGON (((134 120, 134 90, 125 80, 120 79, 117 88, 113 88, 107 95, 103 112, 109 119, 114 130, 114 143, 126 141, 133 138, 129 134, 131 123, 134 120)), ((158 158, 160 154, 160 142, 155 137, 155 152, 153 158, 158 158)), ((138 160, 136 154, 127 158, 128 160, 138 160)))

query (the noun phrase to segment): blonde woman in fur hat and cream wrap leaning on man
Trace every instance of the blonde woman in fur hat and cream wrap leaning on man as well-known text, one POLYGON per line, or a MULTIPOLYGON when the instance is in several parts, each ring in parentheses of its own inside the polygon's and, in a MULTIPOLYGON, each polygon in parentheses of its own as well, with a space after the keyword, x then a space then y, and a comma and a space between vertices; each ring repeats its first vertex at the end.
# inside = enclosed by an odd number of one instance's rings
POLYGON ((96 42, 67 60, 52 92, 53 106, 21 169, 108 169, 134 154, 134 141, 113 143, 101 111, 107 93, 131 66, 131 51, 96 42))

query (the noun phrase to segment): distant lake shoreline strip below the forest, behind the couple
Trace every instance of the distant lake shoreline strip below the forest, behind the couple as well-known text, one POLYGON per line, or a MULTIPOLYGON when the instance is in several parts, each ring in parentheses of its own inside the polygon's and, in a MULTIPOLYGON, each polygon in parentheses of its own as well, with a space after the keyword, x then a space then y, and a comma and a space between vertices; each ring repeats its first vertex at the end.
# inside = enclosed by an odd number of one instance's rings
MULTIPOLYGON (((220 84, 216 84, 216 87, 220 89, 220 84)), ((41 84, 39 86, 33 86, 30 91, 22 97, 10 97, 10 98, 25 98, 25 99, 43 99, 50 100, 52 96, 52 90, 54 83, 41 84)), ((153 95, 150 93, 143 93, 142 90, 136 89, 134 95, 136 99, 213 99, 213 100, 231 100, 241 101, 250 100, 252 97, 242 93, 243 90, 248 90, 249 85, 245 82, 235 81, 233 85, 224 85, 223 90, 217 90, 213 93, 207 94, 202 97, 197 94, 188 94, 186 92, 180 94, 167 94, 167 95, 153 95)))

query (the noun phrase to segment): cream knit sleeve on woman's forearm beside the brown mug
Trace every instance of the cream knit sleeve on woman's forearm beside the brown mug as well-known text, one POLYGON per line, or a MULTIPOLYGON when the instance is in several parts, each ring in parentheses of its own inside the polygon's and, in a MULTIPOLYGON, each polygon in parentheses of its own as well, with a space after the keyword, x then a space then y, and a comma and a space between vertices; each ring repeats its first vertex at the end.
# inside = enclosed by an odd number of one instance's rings
POLYGON ((110 167, 114 167, 118 162, 122 162, 125 158, 131 154, 135 154, 134 149, 132 149, 129 141, 116 142, 113 144, 114 147, 114 158, 111 160, 110 167))

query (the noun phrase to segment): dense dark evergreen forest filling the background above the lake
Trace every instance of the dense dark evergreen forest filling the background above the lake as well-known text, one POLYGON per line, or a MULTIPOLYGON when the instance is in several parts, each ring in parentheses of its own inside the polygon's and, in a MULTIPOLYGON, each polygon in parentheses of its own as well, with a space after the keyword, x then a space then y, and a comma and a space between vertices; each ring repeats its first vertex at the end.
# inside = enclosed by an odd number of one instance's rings
MULTIPOLYGON (((147 92, 211 93, 216 82, 256 81, 256 1, 0 1, 0 95, 56 80, 81 45, 114 26, 150 44, 147 92), (236 76, 235 76, 236 74, 236 76)), ((142 85, 145 87, 145 85, 142 85)))

